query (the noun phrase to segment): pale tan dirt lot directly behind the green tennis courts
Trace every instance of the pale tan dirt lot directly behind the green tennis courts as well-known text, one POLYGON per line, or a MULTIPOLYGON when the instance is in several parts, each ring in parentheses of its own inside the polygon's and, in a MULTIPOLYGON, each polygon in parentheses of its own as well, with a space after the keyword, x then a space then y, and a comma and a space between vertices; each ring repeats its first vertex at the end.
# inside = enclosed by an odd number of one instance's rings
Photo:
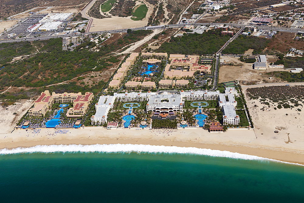
POLYGON ((283 69, 271 68, 266 71, 254 70, 251 63, 243 63, 234 57, 221 57, 226 63, 233 63, 238 66, 223 65, 219 68, 219 83, 233 80, 240 81, 240 84, 261 84, 271 82, 282 82, 280 78, 269 79, 267 72, 284 71, 283 69), (229 62, 227 62, 229 61, 229 62), (242 68, 241 68, 242 67, 242 68), (261 75, 259 75, 261 73, 261 75))

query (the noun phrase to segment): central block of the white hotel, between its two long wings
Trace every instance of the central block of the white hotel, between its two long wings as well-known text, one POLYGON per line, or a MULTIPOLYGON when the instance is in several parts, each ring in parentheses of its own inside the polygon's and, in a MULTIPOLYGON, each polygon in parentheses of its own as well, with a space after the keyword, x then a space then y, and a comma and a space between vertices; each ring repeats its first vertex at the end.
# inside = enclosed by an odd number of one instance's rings
POLYGON ((180 94, 151 95, 146 105, 146 110, 155 114, 174 114, 183 111, 182 97, 180 94))

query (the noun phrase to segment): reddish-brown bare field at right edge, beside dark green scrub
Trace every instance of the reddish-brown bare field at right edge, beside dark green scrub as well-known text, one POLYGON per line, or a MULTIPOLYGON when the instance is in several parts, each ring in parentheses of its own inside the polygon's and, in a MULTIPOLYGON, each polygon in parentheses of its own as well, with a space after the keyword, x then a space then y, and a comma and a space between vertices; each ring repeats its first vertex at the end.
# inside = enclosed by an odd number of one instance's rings
POLYGON ((303 50, 304 40, 294 40, 295 33, 279 32, 272 37, 267 50, 277 50, 286 54, 290 48, 303 50))

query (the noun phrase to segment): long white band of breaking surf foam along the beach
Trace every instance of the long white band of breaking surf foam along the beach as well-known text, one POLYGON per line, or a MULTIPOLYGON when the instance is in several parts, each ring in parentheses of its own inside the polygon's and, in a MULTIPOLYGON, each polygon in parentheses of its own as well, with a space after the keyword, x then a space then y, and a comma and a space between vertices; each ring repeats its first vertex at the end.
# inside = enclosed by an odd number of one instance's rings
MULTIPOLYGON (((133 144, 109 144, 109 145, 37 145, 33 147, 23 148, 18 147, 14 149, 1 149, 0 154, 15 154, 15 153, 51 153, 51 152, 147 152, 147 153, 181 153, 181 154, 197 154, 215 157, 227 157, 233 159, 246 159, 246 160, 264 160, 275 161, 281 163, 289 163, 278 161, 275 159, 268 159, 259 156, 240 154, 237 152, 220 151, 212 149, 201 149, 195 147, 177 147, 177 146, 158 146, 158 145, 133 145, 133 144)), ((297 163, 289 163, 297 164, 297 163)))

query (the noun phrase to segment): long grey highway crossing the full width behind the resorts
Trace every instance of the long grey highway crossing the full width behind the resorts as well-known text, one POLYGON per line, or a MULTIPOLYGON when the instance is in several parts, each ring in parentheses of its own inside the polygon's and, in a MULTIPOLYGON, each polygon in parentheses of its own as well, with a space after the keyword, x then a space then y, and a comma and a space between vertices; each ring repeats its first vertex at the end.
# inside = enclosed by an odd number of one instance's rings
MULTIPOLYGON (((247 24, 237 24, 237 23, 225 23, 227 26, 232 27, 239 27, 239 28, 245 28, 245 26, 250 26, 247 24)), ((223 25, 223 23, 189 23, 187 25, 223 25)), ((149 30, 157 30, 157 29, 166 29, 166 28, 179 28, 183 27, 185 24, 172 24, 167 25, 167 27, 160 28, 159 26, 149 26, 149 30)), ((286 27, 274 27, 274 26, 255 26, 258 30, 273 30, 273 31, 280 31, 280 32, 291 32, 291 33, 298 33, 303 32, 303 29, 299 28, 286 28, 286 27)), ((12 39, 12 40, 0 40, 0 43, 8 43, 8 42, 20 42, 20 41, 36 41, 36 40, 48 40, 51 38, 64 38, 64 37, 76 37, 76 36, 83 36, 85 34, 91 34, 91 33, 121 33, 126 32, 128 29, 119 29, 119 30, 107 30, 107 31, 98 31, 98 32, 87 32, 87 33, 78 33, 78 34, 67 34, 67 35, 56 35, 56 36, 47 36, 47 37, 28 37, 28 38, 20 38, 20 39, 12 39)), ((146 30, 146 27, 139 27, 139 28, 132 28, 131 30, 146 30)))

